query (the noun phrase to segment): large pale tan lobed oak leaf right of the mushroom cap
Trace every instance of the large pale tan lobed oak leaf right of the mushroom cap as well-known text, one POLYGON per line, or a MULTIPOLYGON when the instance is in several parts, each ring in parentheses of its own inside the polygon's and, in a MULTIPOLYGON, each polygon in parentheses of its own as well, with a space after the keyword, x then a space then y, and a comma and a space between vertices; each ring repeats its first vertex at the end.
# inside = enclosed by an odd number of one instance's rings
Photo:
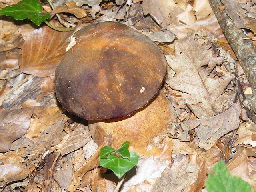
POLYGON ((210 46, 202 48, 199 41, 191 35, 184 41, 175 42, 176 55, 166 59, 176 76, 167 80, 172 89, 184 92, 182 100, 198 118, 208 118, 217 114, 214 102, 232 76, 218 80, 209 78, 212 69, 223 62, 223 57, 214 57, 210 46))

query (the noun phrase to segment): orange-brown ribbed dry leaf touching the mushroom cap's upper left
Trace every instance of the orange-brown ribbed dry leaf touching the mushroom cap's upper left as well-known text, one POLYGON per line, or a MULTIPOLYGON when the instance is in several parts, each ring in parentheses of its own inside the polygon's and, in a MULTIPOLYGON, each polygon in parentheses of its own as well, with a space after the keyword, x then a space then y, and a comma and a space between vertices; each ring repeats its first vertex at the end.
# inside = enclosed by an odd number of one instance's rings
POLYGON ((23 44, 23 54, 19 57, 22 73, 46 77, 54 75, 60 64, 72 32, 58 32, 48 26, 35 29, 23 44))

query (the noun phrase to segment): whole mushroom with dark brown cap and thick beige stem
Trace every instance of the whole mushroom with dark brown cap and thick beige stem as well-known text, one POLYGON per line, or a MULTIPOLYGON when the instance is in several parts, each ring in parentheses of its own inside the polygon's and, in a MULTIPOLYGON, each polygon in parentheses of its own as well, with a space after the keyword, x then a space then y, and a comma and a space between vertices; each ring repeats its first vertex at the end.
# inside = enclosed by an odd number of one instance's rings
POLYGON ((88 120, 100 144, 159 143, 176 121, 160 92, 167 62, 150 38, 118 22, 101 22, 73 35, 75 44, 55 71, 56 96, 66 110, 88 120), (160 94, 159 94, 160 92, 160 94))

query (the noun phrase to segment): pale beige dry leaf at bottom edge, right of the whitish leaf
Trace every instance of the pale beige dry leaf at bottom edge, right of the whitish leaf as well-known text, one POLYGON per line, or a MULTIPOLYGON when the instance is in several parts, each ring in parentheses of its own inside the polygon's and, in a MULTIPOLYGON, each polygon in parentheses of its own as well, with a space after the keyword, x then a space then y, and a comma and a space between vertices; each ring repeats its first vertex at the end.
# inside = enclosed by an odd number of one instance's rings
POLYGON ((187 191, 196 181, 198 165, 189 162, 189 158, 178 154, 170 169, 164 170, 161 178, 152 186, 154 192, 187 191))

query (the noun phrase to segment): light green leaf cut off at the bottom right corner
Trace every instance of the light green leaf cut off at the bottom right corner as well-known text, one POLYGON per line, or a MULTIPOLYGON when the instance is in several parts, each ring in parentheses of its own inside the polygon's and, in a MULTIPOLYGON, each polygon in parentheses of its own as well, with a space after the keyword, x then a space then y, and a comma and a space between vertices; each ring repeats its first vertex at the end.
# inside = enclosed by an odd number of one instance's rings
POLYGON ((209 173, 206 180, 207 192, 251 192, 252 186, 240 177, 232 176, 225 163, 219 161, 212 170, 215 174, 209 173))

